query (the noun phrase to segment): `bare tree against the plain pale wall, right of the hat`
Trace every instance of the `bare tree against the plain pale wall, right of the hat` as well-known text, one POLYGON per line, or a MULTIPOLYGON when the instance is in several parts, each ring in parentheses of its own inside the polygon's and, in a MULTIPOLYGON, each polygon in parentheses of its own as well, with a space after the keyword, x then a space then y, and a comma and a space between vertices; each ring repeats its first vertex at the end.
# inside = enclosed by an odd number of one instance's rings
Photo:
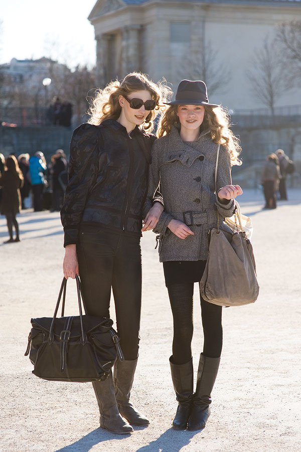
POLYGON ((265 38, 261 49, 256 49, 251 57, 246 75, 251 89, 274 115, 276 99, 283 92, 285 75, 280 52, 272 41, 265 38))

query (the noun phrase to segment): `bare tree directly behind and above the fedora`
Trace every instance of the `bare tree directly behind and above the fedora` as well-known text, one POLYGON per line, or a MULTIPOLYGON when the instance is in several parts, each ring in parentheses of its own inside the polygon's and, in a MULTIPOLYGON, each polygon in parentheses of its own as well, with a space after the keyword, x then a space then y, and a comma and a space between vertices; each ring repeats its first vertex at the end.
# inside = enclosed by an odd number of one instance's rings
POLYGON ((197 56, 188 56, 187 63, 185 73, 188 78, 205 81, 210 96, 217 91, 224 92, 230 83, 231 71, 221 60, 218 50, 213 48, 211 41, 201 45, 197 56))

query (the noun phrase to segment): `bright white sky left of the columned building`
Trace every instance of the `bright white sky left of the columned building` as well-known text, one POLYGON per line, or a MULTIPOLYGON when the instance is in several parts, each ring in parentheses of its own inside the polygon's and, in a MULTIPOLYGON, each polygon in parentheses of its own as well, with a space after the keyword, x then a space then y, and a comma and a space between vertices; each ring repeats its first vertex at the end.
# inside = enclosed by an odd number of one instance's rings
POLYGON ((0 0, 0 64, 12 58, 52 57, 70 67, 96 61, 96 0, 0 0))

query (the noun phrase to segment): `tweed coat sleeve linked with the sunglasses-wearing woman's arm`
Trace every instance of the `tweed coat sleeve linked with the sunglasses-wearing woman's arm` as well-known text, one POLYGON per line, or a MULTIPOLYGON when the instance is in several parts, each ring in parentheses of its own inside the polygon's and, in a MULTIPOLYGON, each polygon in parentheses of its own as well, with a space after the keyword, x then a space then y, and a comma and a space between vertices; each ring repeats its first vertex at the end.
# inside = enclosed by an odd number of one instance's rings
MULTIPOLYGON (((159 166, 159 157, 158 157, 158 143, 160 140, 156 140, 152 147, 152 163, 149 166, 148 173, 148 190, 146 200, 143 206, 143 218, 145 218, 149 209, 153 206, 154 201, 160 201, 161 193, 160 193, 160 166, 159 166), (159 196, 160 195, 160 196, 159 196)), ((163 204, 163 199, 161 204, 163 204)), ((157 223, 154 232, 156 234, 164 235, 170 221, 173 220, 173 216, 169 213, 163 211, 160 219, 157 223)))

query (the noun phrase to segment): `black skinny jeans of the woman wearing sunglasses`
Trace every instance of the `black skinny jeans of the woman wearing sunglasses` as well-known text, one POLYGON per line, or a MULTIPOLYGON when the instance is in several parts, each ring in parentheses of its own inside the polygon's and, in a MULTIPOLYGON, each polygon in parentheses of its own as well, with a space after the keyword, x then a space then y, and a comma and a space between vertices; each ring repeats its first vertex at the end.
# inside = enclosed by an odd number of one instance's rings
POLYGON ((140 238, 104 229, 81 232, 77 257, 87 314, 110 316, 112 288, 124 358, 136 359, 141 311, 140 238))

